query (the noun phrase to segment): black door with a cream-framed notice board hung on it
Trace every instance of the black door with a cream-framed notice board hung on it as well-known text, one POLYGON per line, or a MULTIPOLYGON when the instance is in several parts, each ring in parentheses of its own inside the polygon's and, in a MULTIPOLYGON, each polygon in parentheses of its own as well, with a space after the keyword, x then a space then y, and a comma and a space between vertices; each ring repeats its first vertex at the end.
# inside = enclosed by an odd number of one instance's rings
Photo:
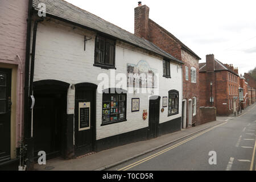
POLYGON ((96 90, 76 89, 75 104, 75 155, 88 154, 94 150, 96 140, 96 90))

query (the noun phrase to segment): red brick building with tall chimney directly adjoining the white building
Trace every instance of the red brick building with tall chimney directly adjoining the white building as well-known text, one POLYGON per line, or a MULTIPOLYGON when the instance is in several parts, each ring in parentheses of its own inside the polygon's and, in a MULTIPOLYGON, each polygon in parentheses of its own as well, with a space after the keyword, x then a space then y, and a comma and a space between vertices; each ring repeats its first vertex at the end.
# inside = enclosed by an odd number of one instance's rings
MULTIPOLYGON (((141 5, 135 8, 134 34, 149 40, 167 53, 183 61, 183 128, 199 122, 199 60, 191 49, 174 35, 149 18, 149 7, 141 5), (198 114, 197 114, 198 113, 198 114)), ((171 77, 171 75, 170 75, 171 77)))

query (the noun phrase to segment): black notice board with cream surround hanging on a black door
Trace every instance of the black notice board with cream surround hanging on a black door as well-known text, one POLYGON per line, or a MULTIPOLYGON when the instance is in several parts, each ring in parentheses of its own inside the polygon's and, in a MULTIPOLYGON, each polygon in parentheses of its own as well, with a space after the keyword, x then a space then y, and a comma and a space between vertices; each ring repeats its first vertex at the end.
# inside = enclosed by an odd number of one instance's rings
POLYGON ((90 129, 90 102, 79 102, 79 131, 90 129))

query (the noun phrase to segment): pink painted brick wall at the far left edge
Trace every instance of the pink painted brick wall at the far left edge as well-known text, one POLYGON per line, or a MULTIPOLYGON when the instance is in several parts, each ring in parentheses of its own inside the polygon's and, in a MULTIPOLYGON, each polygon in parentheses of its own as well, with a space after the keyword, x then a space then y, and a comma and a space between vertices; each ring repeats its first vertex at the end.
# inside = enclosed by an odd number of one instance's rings
POLYGON ((20 125, 23 125, 27 10, 28 0, 0 1, 0 63, 18 65, 16 79, 16 147, 18 147, 18 141, 22 137, 20 125))

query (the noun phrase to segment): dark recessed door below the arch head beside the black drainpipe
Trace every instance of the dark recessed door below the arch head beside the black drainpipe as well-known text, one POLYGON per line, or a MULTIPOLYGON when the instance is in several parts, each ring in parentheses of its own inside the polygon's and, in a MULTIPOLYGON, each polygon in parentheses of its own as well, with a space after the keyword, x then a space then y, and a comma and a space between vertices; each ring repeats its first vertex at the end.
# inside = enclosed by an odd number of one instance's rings
POLYGON ((61 93, 35 93, 33 133, 35 157, 45 151, 47 159, 61 155, 63 121, 67 95, 61 93))

